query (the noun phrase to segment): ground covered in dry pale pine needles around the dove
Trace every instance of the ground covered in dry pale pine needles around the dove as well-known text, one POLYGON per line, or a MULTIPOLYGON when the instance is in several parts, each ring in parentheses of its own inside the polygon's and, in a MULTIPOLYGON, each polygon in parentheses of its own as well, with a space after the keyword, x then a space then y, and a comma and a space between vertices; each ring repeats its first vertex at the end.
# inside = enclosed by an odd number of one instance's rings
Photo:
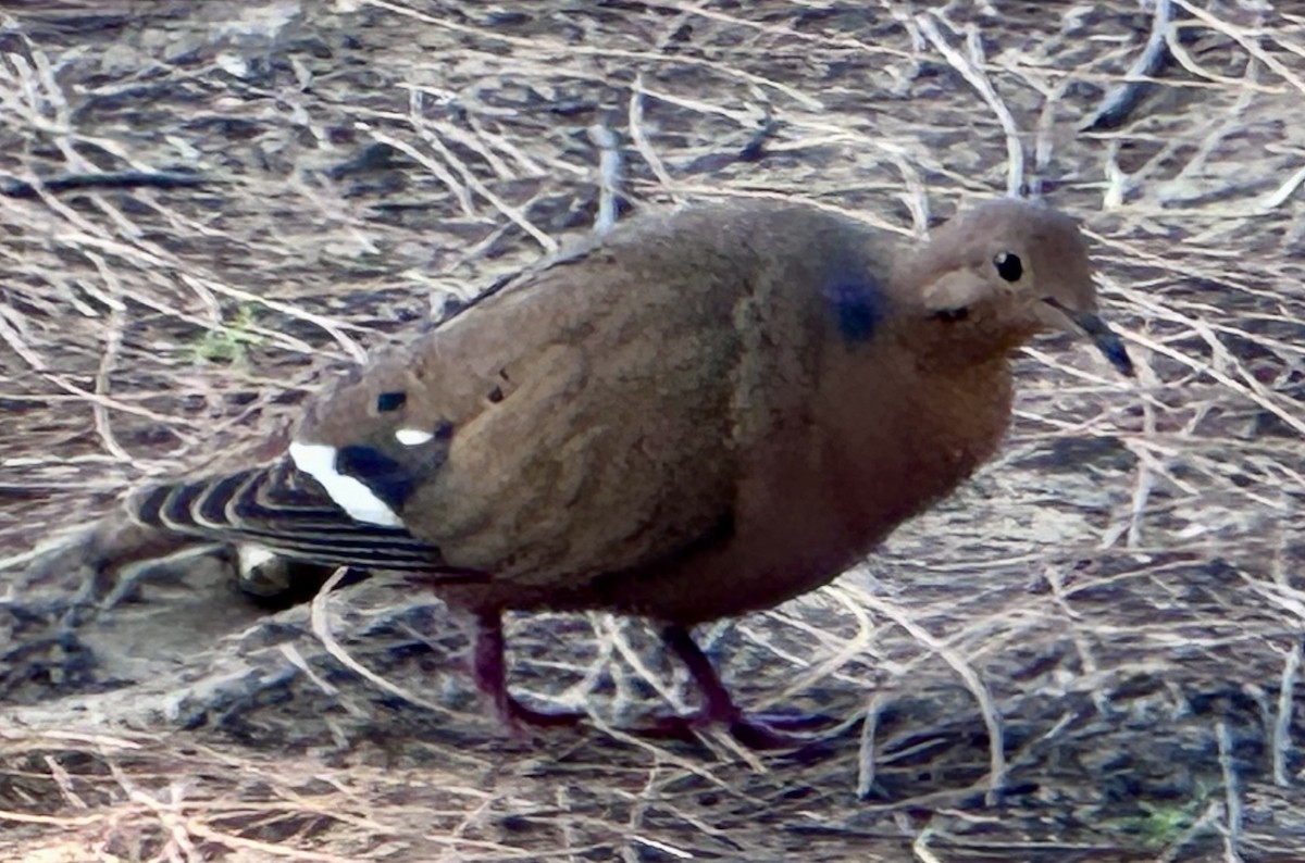
POLYGON ((1154 4, 0 3, 0 858, 1305 858, 1305 22, 1161 5, 1094 123, 1154 4), (1041 194, 1138 361, 1037 343, 960 494, 703 632, 748 705, 842 720, 821 747, 622 731, 684 682, 600 615, 512 622, 514 687, 595 714, 531 739, 411 591, 268 614, 210 555, 89 601, 61 549, 133 484, 273 455, 330 373, 590 231, 594 126, 622 211, 921 233, 1041 194), (185 176, 60 185, 129 171, 185 176))

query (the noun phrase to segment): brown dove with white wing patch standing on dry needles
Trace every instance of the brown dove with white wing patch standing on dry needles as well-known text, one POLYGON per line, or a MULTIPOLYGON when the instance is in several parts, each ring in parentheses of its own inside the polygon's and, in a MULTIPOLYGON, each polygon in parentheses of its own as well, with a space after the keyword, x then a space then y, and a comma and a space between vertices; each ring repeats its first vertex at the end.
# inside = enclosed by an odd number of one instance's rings
POLYGON ((688 627, 826 584, 953 491, 1010 421, 1010 355, 1096 317, 1084 241, 994 201, 912 248, 779 202, 634 220, 499 285, 324 391, 290 454, 149 489, 134 516, 326 564, 397 570, 480 621, 652 618, 749 742, 688 627))

